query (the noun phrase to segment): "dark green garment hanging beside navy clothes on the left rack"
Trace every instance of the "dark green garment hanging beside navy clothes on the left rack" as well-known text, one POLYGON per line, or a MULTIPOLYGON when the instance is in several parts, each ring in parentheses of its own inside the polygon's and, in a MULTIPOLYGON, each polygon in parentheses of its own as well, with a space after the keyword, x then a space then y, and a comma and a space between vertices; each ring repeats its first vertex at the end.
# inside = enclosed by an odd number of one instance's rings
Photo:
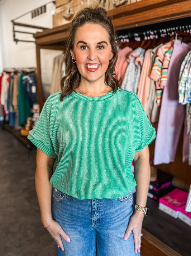
POLYGON ((23 90, 23 76, 20 75, 19 85, 18 85, 18 111, 19 111, 19 125, 26 123, 26 118, 31 116, 29 100, 25 98, 23 90))

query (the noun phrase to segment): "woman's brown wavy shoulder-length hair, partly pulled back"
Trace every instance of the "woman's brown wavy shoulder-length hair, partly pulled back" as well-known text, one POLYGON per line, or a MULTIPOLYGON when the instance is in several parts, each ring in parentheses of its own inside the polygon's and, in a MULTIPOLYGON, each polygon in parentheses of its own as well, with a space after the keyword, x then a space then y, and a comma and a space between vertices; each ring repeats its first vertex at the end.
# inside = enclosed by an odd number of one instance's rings
POLYGON ((71 94, 73 90, 80 85, 81 75, 77 69, 76 64, 72 63, 70 50, 73 50, 75 34, 77 29, 87 23, 99 24, 108 31, 109 40, 111 44, 111 51, 113 53, 113 60, 109 62, 108 69, 105 72, 105 83, 111 86, 114 92, 116 92, 116 90, 119 87, 119 82, 115 75, 115 64, 118 58, 116 47, 116 35, 111 18, 107 15, 106 10, 101 7, 87 7, 80 10, 72 20, 70 35, 68 38, 66 53, 64 57, 66 75, 61 80, 62 93, 60 100, 63 100, 63 98, 66 95, 71 94))

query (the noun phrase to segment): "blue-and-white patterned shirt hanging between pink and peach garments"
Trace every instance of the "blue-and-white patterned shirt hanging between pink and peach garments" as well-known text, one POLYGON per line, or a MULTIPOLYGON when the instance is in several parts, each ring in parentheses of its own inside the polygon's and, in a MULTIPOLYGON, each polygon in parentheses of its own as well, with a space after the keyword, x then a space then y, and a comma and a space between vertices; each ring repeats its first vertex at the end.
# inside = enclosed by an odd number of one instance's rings
POLYGON ((143 65, 145 50, 141 47, 135 49, 129 55, 129 64, 125 71, 125 76, 121 84, 121 88, 133 91, 137 94, 137 86, 139 83, 140 72, 143 65))

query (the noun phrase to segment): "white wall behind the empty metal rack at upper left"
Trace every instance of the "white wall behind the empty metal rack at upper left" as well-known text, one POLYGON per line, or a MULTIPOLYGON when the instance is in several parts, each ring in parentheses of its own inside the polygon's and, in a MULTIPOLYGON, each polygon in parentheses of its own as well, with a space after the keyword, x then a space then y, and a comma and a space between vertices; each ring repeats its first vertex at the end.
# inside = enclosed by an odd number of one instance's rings
MULTIPOLYGON (((36 51, 35 43, 33 42, 18 42, 13 41, 13 27, 11 20, 45 5, 49 0, 1 0, 0 1, 0 72, 4 68, 20 68, 20 67, 36 67, 36 51)), ((27 14, 22 18, 16 19, 15 22, 34 24, 37 26, 52 28, 51 10, 55 9, 53 3, 47 4, 47 12, 39 15, 34 19, 31 14, 27 14)), ((15 26, 15 30, 35 33, 37 30, 27 27, 15 26)), ((32 35, 16 33, 16 38, 20 40, 31 40, 32 35)), ((41 50, 41 67, 42 67, 42 82, 45 90, 45 95, 48 94, 49 85, 52 79, 52 64, 53 58, 60 54, 57 50, 41 50)))

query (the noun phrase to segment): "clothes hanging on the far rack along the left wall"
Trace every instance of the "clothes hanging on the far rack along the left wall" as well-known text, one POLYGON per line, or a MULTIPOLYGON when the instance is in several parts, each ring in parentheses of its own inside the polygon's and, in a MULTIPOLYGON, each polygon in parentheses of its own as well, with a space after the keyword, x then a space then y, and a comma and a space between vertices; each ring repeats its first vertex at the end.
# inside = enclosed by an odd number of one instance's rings
POLYGON ((35 69, 5 69, 0 76, 1 114, 9 116, 9 126, 21 127, 32 116, 38 102, 35 69))

